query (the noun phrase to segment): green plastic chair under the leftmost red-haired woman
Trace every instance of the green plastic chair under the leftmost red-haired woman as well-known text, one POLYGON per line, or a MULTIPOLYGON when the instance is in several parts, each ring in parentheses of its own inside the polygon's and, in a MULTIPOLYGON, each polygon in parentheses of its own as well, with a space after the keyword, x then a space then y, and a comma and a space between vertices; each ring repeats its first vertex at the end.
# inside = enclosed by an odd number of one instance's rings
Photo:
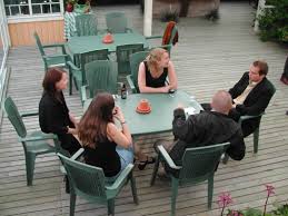
POLYGON ((22 118, 37 116, 38 112, 27 112, 20 115, 11 97, 6 98, 4 110, 8 115, 8 119, 13 125, 18 134, 19 140, 22 143, 26 157, 27 185, 31 186, 33 181, 36 157, 38 155, 54 153, 57 149, 48 144, 48 139, 53 139, 57 145, 58 137, 51 134, 43 134, 40 130, 28 134, 22 118))

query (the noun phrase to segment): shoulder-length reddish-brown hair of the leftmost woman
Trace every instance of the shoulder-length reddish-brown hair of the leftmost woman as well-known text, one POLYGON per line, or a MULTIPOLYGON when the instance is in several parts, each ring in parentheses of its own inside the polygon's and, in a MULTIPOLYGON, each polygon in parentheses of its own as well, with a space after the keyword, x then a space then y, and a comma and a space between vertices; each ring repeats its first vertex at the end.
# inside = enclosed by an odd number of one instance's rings
POLYGON ((42 82, 44 92, 51 95, 52 97, 58 98, 56 84, 62 79, 62 75, 66 72, 60 68, 50 68, 44 75, 44 79, 42 82))

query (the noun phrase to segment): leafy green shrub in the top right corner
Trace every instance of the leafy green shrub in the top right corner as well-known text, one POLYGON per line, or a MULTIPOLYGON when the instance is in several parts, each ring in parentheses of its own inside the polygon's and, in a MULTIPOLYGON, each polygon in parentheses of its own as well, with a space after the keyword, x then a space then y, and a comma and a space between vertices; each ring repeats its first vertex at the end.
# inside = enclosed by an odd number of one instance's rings
POLYGON ((260 38, 288 42, 288 0, 267 0, 266 4, 275 8, 264 9, 258 17, 260 38))

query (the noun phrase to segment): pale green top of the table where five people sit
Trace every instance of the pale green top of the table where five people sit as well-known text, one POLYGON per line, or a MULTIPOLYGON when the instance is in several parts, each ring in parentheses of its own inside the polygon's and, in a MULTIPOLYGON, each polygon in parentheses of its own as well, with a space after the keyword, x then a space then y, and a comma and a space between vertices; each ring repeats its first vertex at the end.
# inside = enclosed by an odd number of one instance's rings
MULTIPOLYGON (((83 111, 87 110, 91 99, 83 104, 83 111)), ((116 105, 122 109, 125 119, 129 126, 131 135, 147 135, 172 130, 173 110, 178 105, 195 108, 195 114, 199 114, 202 107, 182 90, 175 94, 133 94, 127 99, 120 97, 116 99, 116 105), (138 114, 136 108, 141 99, 148 99, 151 106, 149 114, 138 114)))

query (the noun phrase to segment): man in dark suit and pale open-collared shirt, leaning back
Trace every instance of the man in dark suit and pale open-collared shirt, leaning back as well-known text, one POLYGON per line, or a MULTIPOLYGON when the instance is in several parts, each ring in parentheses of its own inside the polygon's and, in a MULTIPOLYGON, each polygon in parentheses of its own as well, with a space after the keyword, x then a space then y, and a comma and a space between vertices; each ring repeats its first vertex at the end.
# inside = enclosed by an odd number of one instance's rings
MULTIPOLYGON (((267 73, 268 65, 265 61, 252 62, 249 71, 229 90, 234 101, 229 117, 238 121, 240 116, 257 116, 265 111, 275 94, 274 85, 266 78, 267 73)), ((260 118, 242 122, 244 137, 254 132, 259 126, 260 118)))

